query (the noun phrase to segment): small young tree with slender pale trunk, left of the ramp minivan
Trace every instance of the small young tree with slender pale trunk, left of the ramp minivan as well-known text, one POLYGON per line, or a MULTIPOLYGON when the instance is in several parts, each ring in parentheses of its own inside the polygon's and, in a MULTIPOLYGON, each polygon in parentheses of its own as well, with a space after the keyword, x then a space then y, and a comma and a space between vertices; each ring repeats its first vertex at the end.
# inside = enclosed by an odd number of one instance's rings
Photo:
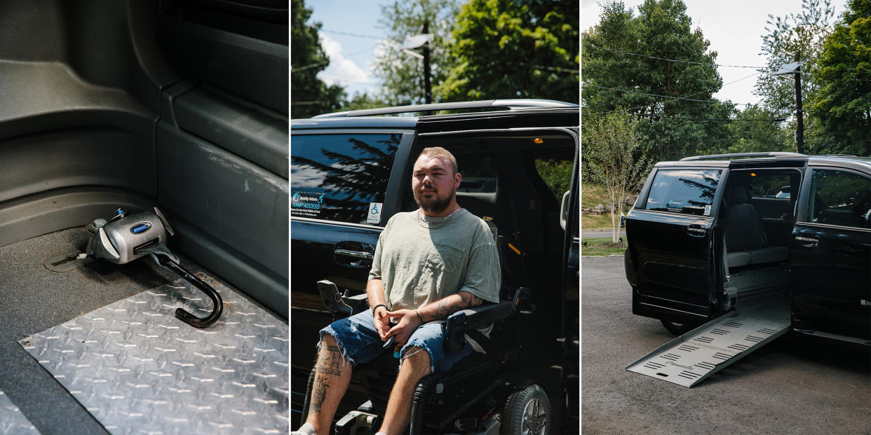
POLYGON ((650 170, 638 135, 640 121, 627 110, 585 116, 581 136, 582 170, 591 181, 604 187, 611 203, 611 241, 618 241, 619 219, 624 198, 636 193, 650 170))

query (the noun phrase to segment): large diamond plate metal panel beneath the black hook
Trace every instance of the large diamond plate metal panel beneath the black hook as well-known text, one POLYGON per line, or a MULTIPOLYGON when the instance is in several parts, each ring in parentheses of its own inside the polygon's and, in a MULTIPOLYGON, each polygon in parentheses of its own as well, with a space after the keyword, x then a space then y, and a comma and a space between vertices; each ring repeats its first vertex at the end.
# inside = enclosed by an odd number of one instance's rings
POLYGON ((224 313, 185 280, 106 305, 19 343, 111 433, 288 432, 287 324, 212 278, 224 313))

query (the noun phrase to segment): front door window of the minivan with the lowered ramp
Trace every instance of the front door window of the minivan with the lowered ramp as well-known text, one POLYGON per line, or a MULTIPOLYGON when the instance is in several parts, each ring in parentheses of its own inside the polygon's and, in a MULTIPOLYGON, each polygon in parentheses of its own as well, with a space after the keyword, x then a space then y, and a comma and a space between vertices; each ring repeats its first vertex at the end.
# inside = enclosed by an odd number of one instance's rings
POLYGON ((868 228, 871 179, 854 172, 814 170, 807 217, 819 224, 868 228))

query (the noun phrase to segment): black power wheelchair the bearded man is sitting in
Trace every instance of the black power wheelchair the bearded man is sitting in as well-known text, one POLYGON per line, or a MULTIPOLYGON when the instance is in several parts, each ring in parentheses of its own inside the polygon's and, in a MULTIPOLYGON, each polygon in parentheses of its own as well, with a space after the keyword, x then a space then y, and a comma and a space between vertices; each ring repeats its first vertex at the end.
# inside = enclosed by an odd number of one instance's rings
MULTIPOLYGON (((538 360, 530 355, 541 338, 536 337, 535 307, 530 304, 530 288, 525 286, 524 253, 503 236, 497 244, 503 278, 500 302, 457 311, 438 321, 445 331, 446 350, 459 350, 464 340, 471 338, 486 353, 473 351, 449 371, 436 371, 421 379, 411 407, 411 435, 559 431, 561 422, 552 410, 560 409, 564 401, 561 380, 548 371, 547 358, 538 360), (489 338, 476 331, 491 324, 489 338)), ((366 294, 348 297, 345 291, 342 295, 329 281, 320 281, 318 290, 334 320, 368 309, 366 294)), ((352 383, 363 385, 369 400, 339 418, 334 433, 375 433, 397 371, 398 360, 391 351, 354 367, 352 383)), ((307 418, 313 383, 314 368, 309 373, 300 421, 307 418)))

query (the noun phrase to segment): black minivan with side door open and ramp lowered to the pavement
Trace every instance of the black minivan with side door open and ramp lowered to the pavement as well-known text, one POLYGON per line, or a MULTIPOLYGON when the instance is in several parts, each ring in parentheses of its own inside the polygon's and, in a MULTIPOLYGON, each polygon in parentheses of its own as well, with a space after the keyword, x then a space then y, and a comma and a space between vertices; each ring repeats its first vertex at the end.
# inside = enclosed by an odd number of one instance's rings
POLYGON ((793 331, 871 345, 871 158, 656 164, 626 217, 632 312, 672 332, 786 295, 793 331))

